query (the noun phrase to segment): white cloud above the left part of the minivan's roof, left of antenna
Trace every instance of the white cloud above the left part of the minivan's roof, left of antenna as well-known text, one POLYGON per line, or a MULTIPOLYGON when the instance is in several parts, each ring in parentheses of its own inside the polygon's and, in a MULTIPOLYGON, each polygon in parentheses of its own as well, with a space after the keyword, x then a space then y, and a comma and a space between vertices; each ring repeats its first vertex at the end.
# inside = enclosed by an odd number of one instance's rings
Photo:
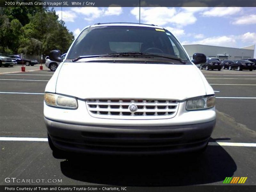
POLYGON ((122 7, 73 7, 71 10, 76 14, 85 15, 86 17, 84 17, 84 20, 87 21, 93 21, 103 16, 120 15, 123 12, 122 7))

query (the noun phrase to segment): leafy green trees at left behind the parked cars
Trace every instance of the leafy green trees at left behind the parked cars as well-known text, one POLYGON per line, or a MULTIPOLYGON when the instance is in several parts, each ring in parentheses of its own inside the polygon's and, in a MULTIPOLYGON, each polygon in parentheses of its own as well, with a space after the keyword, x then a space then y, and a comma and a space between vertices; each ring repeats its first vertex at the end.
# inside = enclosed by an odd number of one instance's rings
POLYGON ((64 53, 73 40, 53 8, 0 7, 1 53, 48 55, 54 49, 64 53))

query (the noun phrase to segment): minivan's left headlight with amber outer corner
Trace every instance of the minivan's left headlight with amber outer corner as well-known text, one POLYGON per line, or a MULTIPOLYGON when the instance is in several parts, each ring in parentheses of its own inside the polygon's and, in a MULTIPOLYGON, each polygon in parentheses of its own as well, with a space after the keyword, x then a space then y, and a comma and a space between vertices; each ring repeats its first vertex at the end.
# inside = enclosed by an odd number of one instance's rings
POLYGON ((44 101, 47 105, 60 108, 76 109, 78 106, 76 98, 53 93, 44 93, 44 101))

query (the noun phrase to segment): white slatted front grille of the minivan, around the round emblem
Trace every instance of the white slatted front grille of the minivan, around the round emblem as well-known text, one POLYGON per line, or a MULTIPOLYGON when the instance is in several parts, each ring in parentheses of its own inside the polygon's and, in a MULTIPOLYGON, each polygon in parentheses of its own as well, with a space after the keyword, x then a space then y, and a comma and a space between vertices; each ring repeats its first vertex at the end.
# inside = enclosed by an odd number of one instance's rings
POLYGON ((161 99, 87 99, 91 116, 108 119, 166 119, 176 115, 179 102, 161 99), (132 105, 132 106, 131 106, 132 105), (135 107, 135 109, 131 109, 135 107))

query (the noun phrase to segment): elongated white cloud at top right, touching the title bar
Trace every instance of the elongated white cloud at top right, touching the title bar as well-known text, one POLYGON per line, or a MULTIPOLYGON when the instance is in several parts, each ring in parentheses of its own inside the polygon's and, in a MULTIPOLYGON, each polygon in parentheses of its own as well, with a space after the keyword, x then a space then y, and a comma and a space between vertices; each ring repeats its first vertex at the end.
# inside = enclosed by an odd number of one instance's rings
POLYGON ((223 17, 226 15, 234 15, 242 11, 242 7, 214 7, 209 11, 202 13, 204 16, 208 17, 223 17))

